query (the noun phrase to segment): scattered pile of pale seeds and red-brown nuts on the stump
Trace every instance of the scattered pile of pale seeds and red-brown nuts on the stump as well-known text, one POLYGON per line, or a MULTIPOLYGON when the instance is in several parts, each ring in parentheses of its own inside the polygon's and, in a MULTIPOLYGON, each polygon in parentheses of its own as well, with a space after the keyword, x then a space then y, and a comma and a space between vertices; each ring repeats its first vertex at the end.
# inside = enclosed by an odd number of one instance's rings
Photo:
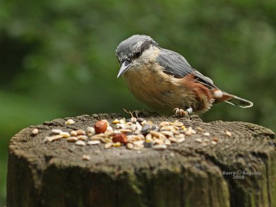
MULTIPOLYGON (((71 119, 72 120, 72 119, 71 119)), ((66 121, 68 124, 68 121, 66 121)), ((73 124, 73 120, 70 121, 73 124)), ((77 146, 105 144, 104 148, 126 146, 128 149, 140 150, 141 148, 153 148, 156 150, 166 149, 172 143, 185 141, 186 136, 201 133, 204 139, 197 138, 195 141, 206 146, 217 144, 217 137, 209 139, 209 132, 204 132, 202 128, 186 128, 181 121, 162 121, 158 125, 145 119, 132 117, 131 119, 115 119, 112 121, 114 127, 110 126, 107 120, 97 121, 95 126, 88 126, 86 130, 72 130, 64 132, 60 129, 52 129, 43 143, 65 138, 68 142, 74 142, 77 146)), ((33 131, 34 132, 34 131, 33 131)), ((226 132, 228 137, 230 132, 226 132)), ((84 158, 87 159, 87 158, 84 158)))

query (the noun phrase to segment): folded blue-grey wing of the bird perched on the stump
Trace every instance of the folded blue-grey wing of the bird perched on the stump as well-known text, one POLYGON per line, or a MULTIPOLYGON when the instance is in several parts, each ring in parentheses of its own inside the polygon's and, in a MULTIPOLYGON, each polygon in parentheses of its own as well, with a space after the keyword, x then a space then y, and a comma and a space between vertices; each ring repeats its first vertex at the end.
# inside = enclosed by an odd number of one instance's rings
POLYGON ((205 77, 200 72, 190 66, 188 61, 177 52, 160 48, 157 62, 164 67, 164 72, 174 77, 183 78, 186 75, 193 74, 196 77, 196 81, 202 83, 211 88, 217 88, 213 81, 208 77, 205 77))

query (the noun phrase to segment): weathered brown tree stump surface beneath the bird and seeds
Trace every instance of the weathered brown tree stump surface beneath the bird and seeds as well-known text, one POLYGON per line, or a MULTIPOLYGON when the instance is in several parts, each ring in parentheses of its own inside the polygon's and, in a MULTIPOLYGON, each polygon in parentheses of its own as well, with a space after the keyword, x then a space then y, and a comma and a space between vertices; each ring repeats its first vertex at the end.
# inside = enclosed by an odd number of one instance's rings
POLYGON ((69 132, 115 118, 122 117, 82 115, 71 118, 72 125, 65 124, 69 118, 55 119, 12 137, 7 206, 276 206, 275 133, 255 124, 180 118, 218 141, 201 144, 206 137, 197 133, 165 150, 43 143, 52 128, 69 132), (32 136, 34 128, 39 134, 32 136))

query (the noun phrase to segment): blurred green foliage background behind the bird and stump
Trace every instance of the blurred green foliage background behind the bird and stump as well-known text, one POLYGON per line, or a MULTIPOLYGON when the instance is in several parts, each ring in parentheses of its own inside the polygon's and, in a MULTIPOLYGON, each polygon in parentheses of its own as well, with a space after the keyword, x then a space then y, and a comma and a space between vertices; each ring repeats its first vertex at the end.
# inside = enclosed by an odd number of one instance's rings
POLYGON ((8 142, 58 117, 142 109, 117 79, 117 45, 148 34, 184 55, 222 90, 254 102, 221 103, 204 121, 276 130, 276 1, 0 1, 0 206, 8 142))

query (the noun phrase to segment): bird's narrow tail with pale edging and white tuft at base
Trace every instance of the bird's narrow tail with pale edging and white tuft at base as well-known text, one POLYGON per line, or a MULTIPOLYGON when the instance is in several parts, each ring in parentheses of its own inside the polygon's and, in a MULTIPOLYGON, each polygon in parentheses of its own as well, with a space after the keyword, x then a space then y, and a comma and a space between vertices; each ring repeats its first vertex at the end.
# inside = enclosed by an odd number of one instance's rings
POLYGON ((251 101, 236 97, 235 95, 230 95, 227 92, 223 92, 218 89, 213 90, 213 97, 215 99, 215 103, 226 102, 230 103, 233 106, 239 106, 242 108, 249 108, 253 106, 253 103, 251 101))

